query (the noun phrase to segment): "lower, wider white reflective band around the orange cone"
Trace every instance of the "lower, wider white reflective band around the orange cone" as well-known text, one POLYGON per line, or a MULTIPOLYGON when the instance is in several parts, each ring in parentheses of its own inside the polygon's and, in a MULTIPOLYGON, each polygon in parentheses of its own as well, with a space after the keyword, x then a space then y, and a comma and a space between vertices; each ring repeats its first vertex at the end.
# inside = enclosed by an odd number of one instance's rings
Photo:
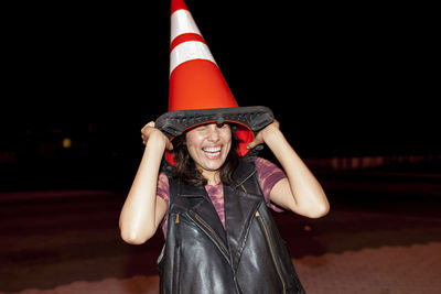
POLYGON ((180 64, 192 59, 211 61, 217 65, 206 44, 200 41, 187 41, 175 46, 170 53, 170 75, 180 64))

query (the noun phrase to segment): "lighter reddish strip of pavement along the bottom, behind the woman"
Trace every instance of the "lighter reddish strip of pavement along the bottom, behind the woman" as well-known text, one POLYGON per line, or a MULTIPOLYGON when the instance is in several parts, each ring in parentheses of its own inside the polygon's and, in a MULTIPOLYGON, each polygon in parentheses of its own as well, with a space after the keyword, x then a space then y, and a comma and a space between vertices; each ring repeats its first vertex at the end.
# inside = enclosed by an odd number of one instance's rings
MULTIPOLYGON (((381 247, 340 254, 293 259, 306 293, 435 294, 441 290, 441 242, 381 247)), ((20 294, 159 293, 158 275, 75 281, 51 290, 28 288, 20 294)), ((3 292, 4 293, 4 292, 3 292)))

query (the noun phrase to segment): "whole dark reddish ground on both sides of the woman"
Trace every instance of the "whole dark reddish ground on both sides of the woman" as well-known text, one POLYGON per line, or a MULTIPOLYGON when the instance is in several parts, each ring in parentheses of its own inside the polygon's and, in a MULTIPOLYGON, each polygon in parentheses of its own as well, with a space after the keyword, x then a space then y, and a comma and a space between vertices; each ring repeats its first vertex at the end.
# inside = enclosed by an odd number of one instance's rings
MULTIPOLYGON (((273 214, 308 293, 441 293, 441 182, 321 177, 331 211, 273 214)), ((125 192, 0 193, 0 293, 158 293, 163 238, 125 243, 125 192)))

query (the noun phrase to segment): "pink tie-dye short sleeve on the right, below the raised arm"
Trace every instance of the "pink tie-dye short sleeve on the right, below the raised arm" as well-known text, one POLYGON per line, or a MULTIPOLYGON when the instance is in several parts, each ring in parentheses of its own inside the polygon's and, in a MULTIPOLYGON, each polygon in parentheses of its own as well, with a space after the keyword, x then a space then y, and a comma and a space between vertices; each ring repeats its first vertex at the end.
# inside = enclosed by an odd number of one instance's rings
POLYGON ((255 164, 267 206, 277 213, 283 211, 283 209, 271 204, 270 195, 272 187, 279 183, 280 179, 286 178, 287 175, 276 164, 262 157, 256 156, 255 164))

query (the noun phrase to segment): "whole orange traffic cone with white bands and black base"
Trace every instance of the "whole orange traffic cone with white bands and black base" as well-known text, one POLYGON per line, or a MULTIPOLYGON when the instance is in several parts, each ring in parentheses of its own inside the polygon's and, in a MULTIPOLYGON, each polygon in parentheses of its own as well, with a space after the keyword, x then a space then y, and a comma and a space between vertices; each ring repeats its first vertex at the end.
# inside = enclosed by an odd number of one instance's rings
MULTIPOLYGON (((248 153, 255 132, 273 121, 267 107, 238 107, 207 44, 183 0, 172 0, 170 40, 169 112, 157 128, 170 140, 196 126, 235 123, 238 154, 248 153)), ((165 159, 174 164, 173 153, 165 159)))

